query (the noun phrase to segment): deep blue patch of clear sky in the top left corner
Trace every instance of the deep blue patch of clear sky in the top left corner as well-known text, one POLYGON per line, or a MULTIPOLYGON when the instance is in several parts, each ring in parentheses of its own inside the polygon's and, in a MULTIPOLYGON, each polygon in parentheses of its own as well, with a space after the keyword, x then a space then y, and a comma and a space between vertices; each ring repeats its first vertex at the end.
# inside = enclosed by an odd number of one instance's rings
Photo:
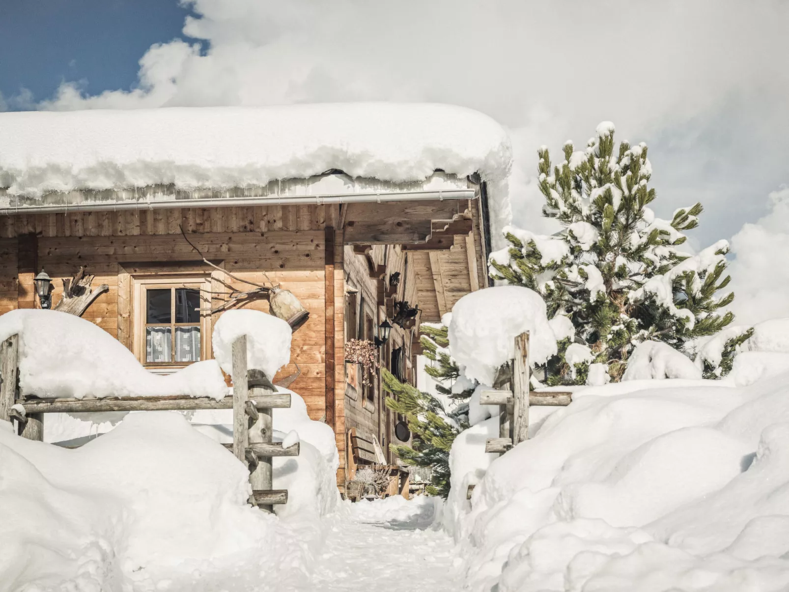
POLYGON ((89 94, 129 88, 152 43, 183 38, 187 13, 170 0, 0 0, 0 93, 41 100, 62 81, 84 81, 89 94))

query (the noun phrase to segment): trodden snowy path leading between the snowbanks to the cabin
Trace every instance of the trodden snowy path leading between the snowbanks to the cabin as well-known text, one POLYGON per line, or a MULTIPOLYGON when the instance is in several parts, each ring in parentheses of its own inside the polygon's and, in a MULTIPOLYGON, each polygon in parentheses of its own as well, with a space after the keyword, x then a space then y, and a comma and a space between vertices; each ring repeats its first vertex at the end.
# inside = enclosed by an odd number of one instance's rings
POLYGON ((427 529, 424 513, 393 517, 361 504, 354 506, 370 511, 354 508, 331 527, 312 582, 298 592, 402 592, 415 583, 431 592, 462 587, 452 567, 454 541, 427 529))

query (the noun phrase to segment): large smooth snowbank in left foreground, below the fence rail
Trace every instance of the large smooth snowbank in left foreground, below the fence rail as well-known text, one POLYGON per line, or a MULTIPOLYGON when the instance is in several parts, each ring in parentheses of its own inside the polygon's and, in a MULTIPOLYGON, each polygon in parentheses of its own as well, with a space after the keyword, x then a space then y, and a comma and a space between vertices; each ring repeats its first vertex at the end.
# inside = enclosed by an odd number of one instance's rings
POLYGON ((248 478, 175 412, 129 414, 77 450, 0 422, 0 507, 15 508, 0 521, 2 589, 234 587, 238 565, 271 573, 285 549, 303 566, 276 519, 246 504, 248 478))

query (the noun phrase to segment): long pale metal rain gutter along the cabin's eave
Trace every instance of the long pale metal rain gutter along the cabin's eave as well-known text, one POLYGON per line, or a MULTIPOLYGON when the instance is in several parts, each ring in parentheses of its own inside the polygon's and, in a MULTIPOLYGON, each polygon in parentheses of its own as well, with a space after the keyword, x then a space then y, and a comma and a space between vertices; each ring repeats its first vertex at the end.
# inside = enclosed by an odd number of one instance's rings
POLYGON ((368 204, 387 201, 473 200, 474 189, 439 191, 387 191, 384 193, 335 193, 293 197, 210 197, 194 200, 88 201, 82 204, 23 205, 0 208, 0 215, 50 214, 64 212, 119 212, 167 208, 230 208, 250 205, 368 204))

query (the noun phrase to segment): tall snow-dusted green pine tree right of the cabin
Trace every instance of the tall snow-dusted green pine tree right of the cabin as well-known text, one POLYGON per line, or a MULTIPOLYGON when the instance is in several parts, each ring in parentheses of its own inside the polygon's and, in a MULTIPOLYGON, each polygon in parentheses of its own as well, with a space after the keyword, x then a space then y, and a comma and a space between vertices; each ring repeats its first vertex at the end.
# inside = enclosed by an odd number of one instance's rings
MULTIPOLYGON (((698 225, 701 204, 679 208, 671 220, 657 218, 648 207, 657 196, 649 187, 646 145, 617 148, 611 122, 597 127, 584 151, 567 142, 563 152, 556 167, 548 148, 538 153, 543 213, 563 230, 549 237, 507 227, 510 247, 490 259, 493 278, 536 290, 552 324, 567 317, 574 328, 559 332, 548 383, 581 384, 593 364, 600 366, 590 382, 619 380, 632 348, 649 339, 692 355, 695 339, 715 335, 734 318, 717 312, 734 298, 716 295, 730 280, 724 277, 728 243, 694 256, 679 251, 685 231, 698 225)), ((724 347, 731 355, 742 336, 732 339, 724 347)))

